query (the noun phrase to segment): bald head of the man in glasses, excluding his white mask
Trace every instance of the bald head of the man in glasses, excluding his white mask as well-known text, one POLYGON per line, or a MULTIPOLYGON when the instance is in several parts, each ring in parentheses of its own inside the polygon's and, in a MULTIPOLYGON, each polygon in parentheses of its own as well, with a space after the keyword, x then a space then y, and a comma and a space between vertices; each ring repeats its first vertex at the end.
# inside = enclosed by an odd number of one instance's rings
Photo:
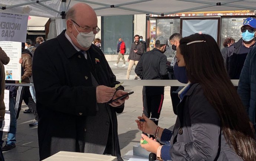
POLYGON ((86 33, 86 31, 82 28, 88 28, 92 31, 93 29, 97 28, 97 24, 98 20, 96 13, 88 4, 77 3, 72 6, 66 13, 66 33, 71 38, 75 46, 81 50, 86 51, 89 48, 81 47, 76 40, 76 36, 80 32, 86 33))

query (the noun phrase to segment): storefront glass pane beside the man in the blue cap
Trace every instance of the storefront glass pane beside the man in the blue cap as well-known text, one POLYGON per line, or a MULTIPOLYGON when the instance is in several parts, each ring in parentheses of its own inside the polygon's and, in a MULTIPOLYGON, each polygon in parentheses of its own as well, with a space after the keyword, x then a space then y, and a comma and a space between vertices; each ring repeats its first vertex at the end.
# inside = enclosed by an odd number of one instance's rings
POLYGON ((246 19, 242 17, 222 18, 221 19, 221 40, 220 48, 223 48, 223 42, 226 38, 232 37, 236 42, 242 38, 240 28, 243 26, 243 21, 246 19))

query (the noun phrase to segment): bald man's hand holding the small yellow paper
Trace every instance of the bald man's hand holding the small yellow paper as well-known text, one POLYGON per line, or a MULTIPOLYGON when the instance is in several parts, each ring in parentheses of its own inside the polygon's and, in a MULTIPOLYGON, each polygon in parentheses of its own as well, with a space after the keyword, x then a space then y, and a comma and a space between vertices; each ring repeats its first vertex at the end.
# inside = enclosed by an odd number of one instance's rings
POLYGON ((110 101, 115 94, 115 89, 105 85, 96 87, 96 100, 97 103, 106 103, 110 101))

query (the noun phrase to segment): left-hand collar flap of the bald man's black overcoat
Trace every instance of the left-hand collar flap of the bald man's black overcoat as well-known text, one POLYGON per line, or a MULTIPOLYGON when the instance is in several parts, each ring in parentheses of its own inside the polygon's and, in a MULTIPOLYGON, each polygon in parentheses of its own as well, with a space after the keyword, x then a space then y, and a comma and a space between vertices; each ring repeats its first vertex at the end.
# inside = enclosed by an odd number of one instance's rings
POLYGON ((78 51, 73 47, 69 40, 65 36, 66 30, 63 30, 62 33, 57 36, 57 40, 60 43, 60 46, 63 48, 64 53, 68 58, 72 57, 78 51))

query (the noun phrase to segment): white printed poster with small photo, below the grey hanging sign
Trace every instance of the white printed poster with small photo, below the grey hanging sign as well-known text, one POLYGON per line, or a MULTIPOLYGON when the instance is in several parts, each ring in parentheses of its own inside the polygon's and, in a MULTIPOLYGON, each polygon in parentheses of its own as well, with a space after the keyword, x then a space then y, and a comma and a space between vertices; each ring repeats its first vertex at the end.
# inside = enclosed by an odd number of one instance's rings
POLYGON ((21 43, 14 41, 0 41, 0 47, 10 58, 10 62, 4 66, 5 80, 21 80, 21 43))

